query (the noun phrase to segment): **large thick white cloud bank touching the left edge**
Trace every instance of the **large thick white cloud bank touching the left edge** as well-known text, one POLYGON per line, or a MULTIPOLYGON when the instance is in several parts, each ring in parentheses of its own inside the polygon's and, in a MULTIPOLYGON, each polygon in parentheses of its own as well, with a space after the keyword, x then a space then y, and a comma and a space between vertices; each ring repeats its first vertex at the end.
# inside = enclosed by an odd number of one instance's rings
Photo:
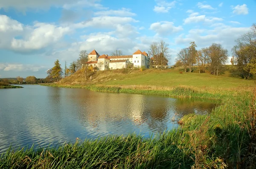
POLYGON ((0 48, 18 52, 31 52, 49 47, 72 31, 69 27, 48 23, 23 25, 5 15, 0 15, 0 20, 0 48))

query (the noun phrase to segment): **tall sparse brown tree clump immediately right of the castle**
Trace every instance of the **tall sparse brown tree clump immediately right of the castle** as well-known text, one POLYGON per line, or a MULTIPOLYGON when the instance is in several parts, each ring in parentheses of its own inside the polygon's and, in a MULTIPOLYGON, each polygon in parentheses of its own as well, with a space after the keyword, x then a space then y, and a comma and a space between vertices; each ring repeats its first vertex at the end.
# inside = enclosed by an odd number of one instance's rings
POLYGON ((169 55, 169 44, 161 40, 160 42, 153 42, 149 49, 148 54, 150 57, 153 57, 154 60, 154 67, 156 65, 161 66, 163 69, 163 66, 168 64, 168 59, 170 58, 169 55))

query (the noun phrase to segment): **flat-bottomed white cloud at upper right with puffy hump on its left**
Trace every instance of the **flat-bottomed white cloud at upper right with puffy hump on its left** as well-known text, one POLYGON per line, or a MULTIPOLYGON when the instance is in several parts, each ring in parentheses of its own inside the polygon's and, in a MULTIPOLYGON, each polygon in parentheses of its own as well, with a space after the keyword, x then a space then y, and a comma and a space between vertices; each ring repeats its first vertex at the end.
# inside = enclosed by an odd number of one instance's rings
POLYGON ((187 17, 184 20, 184 24, 199 23, 199 22, 212 23, 215 21, 223 21, 223 19, 219 17, 206 17, 205 15, 199 15, 198 12, 193 12, 189 14, 189 17, 187 17))

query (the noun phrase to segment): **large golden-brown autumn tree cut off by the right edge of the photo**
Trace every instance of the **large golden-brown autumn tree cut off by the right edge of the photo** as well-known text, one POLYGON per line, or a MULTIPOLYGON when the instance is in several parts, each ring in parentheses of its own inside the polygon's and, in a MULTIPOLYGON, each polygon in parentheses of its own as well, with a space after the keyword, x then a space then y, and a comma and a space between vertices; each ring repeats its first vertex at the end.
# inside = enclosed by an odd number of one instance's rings
POLYGON ((256 58, 256 24, 252 25, 250 31, 241 35, 241 37, 236 40, 236 43, 232 51, 235 56, 239 74, 242 78, 251 79, 256 75, 256 73, 253 73, 253 64, 256 58), (252 69, 252 71, 250 69, 252 69))

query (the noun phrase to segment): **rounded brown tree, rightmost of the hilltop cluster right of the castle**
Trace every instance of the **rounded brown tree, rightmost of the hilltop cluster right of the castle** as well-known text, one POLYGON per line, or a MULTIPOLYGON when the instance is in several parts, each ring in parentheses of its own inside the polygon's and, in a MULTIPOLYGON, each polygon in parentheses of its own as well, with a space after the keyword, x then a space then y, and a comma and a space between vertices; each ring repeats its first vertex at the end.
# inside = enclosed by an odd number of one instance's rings
POLYGON ((228 51, 221 44, 212 43, 208 48, 208 55, 211 71, 218 76, 221 65, 227 62, 228 51))

